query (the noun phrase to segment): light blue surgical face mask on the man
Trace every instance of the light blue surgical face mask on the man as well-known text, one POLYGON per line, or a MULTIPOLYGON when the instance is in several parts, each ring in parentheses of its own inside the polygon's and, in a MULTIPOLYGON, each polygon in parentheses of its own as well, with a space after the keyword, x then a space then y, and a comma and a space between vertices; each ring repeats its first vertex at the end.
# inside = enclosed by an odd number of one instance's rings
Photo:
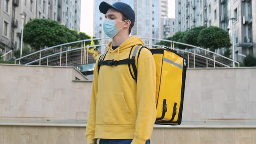
MULTIPOLYGON (((124 22, 124 21, 121 21, 121 22, 124 22)), ((115 23, 121 23, 121 22, 116 22, 115 20, 105 19, 104 24, 103 24, 104 33, 107 36, 109 36, 110 38, 113 38, 118 33, 119 30, 123 29, 123 27, 121 29, 115 28, 115 23)))

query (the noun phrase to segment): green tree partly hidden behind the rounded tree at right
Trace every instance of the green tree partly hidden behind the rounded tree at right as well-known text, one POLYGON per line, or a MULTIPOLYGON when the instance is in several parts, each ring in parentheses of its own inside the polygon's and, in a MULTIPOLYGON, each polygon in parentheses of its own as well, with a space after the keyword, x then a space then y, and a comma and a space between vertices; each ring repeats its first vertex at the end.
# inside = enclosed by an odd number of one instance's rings
POLYGON ((199 43, 197 42, 197 36, 199 36, 200 31, 205 28, 207 27, 198 26, 188 30, 186 36, 184 36, 184 42, 193 46, 199 46, 199 43))

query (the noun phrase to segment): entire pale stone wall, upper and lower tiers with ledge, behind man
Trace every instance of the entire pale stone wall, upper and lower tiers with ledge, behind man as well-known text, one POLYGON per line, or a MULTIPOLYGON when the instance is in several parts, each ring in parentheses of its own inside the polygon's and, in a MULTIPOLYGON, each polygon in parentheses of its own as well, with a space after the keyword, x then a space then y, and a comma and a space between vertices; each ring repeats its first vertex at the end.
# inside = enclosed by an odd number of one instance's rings
MULTIPOLYGON (((0 64, 0 144, 86 144, 91 84, 72 67, 0 64)), ((155 125, 151 144, 256 144, 255 85, 256 68, 188 69, 183 123, 155 125)))

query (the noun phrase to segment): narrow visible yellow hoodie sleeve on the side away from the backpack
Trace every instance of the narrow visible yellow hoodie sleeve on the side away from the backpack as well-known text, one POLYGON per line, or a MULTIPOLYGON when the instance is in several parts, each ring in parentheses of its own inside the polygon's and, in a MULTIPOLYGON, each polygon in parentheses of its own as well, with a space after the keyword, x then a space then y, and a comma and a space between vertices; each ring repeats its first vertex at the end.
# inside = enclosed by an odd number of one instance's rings
POLYGON ((96 144, 97 139, 94 139, 95 135, 95 111, 96 111, 96 95, 98 92, 98 60, 95 63, 93 70, 93 81, 92 81, 92 96, 89 110, 89 118, 86 125, 86 138, 87 144, 96 144))

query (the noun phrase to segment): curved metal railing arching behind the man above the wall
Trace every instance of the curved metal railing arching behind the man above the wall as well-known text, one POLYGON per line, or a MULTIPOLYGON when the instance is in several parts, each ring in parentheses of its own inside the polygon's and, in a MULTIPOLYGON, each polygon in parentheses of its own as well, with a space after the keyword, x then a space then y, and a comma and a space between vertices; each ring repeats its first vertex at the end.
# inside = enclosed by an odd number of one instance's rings
MULTIPOLYGON (((74 64, 70 64, 69 66, 75 66, 78 64, 88 64, 89 63, 89 53, 87 48, 91 47, 102 47, 104 48, 108 43, 106 39, 109 38, 95 38, 95 39, 84 39, 72 43, 64 43, 57 46, 52 46, 46 49, 41 49, 39 51, 30 53, 26 56, 22 56, 18 59, 15 59, 15 64, 23 65, 59 65, 64 66, 68 65, 69 62, 75 61, 74 64), (85 46, 86 41, 92 40, 105 40, 104 44, 85 46), (72 44, 81 43, 81 47, 73 47, 70 46, 72 44), (57 51, 56 51, 57 49, 57 51), (45 52, 45 53, 43 53, 45 52), (72 53, 72 54, 70 54, 72 53), (64 56, 63 56, 64 54, 64 56), (43 55, 43 56, 42 56, 43 55), (64 58, 64 59, 63 59, 64 58), (26 59, 26 60, 24 60, 26 59)), ((196 68, 196 67, 230 67, 235 66, 232 65, 233 62, 237 63, 238 67, 239 62, 233 61, 232 59, 226 58, 218 53, 211 52, 210 50, 200 48, 198 46, 189 45, 186 43, 175 42, 167 39, 151 39, 151 38, 141 38, 145 39, 146 42, 154 40, 154 41, 165 41, 170 43, 167 46, 169 49, 174 49, 178 53, 180 53, 185 59, 187 59, 188 67, 196 68), (181 49, 176 47, 175 45, 182 45, 187 47, 186 49, 181 49), (190 66, 192 64, 192 66, 190 66)), ((160 47, 160 45, 145 43, 148 47, 160 47)), ((91 61, 95 62, 95 60, 91 61)))

